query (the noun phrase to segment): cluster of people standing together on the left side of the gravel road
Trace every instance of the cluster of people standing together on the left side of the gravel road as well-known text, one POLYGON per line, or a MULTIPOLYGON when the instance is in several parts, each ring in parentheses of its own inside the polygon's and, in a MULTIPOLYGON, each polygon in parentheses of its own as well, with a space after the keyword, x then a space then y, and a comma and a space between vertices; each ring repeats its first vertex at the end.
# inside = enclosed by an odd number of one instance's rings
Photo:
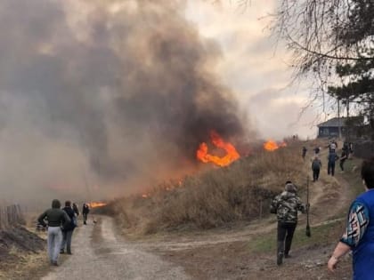
MULTIPOLYGON (((87 214, 90 211, 89 204, 83 204, 82 214, 86 225, 87 214)), ((51 264, 58 266, 60 253, 72 254, 71 239, 73 231, 77 228, 77 216, 79 210, 77 204, 71 201, 65 202, 65 207, 61 209, 58 199, 53 199, 52 208, 47 209, 37 219, 38 223, 47 229, 48 256, 51 264), (45 222, 46 221, 46 222, 45 222)))

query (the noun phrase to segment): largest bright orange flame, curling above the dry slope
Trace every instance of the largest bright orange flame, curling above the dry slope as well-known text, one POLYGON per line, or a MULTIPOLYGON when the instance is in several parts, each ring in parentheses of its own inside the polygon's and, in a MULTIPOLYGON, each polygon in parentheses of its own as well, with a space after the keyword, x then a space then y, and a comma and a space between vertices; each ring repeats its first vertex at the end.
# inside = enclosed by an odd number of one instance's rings
POLYGON ((226 151, 226 155, 223 157, 212 156, 207 152, 207 143, 202 142, 199 145, 199 149, 196 151, 196 157, 203 163, 213 163, 219 166, 227 166, 232 164, 233 161, 240 158, 239 153, 232 143, 225 142, 217 132, 210 132, 210 140, 216 148, 222 148, 226 151))

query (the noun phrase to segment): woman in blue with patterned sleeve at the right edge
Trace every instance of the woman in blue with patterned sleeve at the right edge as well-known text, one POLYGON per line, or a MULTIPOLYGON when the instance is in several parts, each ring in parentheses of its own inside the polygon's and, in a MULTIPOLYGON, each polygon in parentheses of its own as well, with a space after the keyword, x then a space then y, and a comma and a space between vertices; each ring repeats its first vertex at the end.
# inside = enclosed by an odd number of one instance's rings
POLYGON ((374 276, 374 156, 362 162, 365 192, 351 204, 346 230, 328 262, 330 271, 349 251, 353 252, 354 280, 372 280, 374 276))

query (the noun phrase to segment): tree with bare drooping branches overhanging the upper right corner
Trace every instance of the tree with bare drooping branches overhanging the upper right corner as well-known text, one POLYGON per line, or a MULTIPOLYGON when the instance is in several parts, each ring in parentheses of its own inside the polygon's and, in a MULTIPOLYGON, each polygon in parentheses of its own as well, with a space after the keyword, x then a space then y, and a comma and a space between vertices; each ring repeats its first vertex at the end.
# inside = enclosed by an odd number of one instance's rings
POLYGON ((319 92, 355 102, 371 124, 373 15, 373 0, 280 0, 273 28, 293 53, 297 77, 313 76, 319 92))

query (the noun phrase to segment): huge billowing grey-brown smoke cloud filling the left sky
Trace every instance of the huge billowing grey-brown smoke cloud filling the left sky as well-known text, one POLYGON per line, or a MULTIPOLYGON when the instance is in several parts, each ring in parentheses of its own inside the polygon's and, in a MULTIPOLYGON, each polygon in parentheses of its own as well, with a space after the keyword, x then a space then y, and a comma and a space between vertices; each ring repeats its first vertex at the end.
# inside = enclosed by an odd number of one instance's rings
POLYGON ((1 1, 3 197, 112 196, 190 168, 211 129, 240 138, 219 55, 183 1, 1 1))

